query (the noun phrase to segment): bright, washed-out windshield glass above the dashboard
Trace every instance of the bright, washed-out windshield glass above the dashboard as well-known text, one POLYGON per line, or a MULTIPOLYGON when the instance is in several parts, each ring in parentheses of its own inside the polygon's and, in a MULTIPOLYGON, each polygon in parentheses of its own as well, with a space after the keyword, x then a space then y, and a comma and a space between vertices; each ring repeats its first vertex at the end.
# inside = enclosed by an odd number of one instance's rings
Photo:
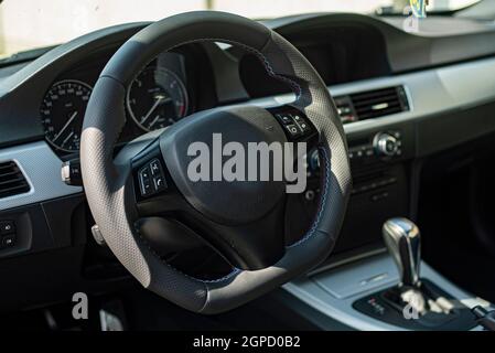
MULTIPOLYGON (((429 0, 428 11, 456 10, 476 0, 429 0)), ((220 10, 252 19, 338 11, 401 13, 409 0, 4 0, 0 57, 67 42, 97 29, 155 21, 192 10, 220 10)))

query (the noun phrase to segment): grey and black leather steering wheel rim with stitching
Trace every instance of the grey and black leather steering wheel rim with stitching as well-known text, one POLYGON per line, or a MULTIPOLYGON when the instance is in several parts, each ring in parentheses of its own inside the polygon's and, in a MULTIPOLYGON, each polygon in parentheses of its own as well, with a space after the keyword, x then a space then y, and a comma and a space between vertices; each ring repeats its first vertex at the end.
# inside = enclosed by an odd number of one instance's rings
POLYGON ((90 96, 80 142, 83 182, 90 211, 107 245, 139 282, 172 302, 201 313, 240 306, 326 259, 345 214, 351 170, 335 104, 304 56, 278 33, 252 20, 223 12, 197 11, 155 22, 129 39, 110 58, 90 96), (215 280, 190 277, 163 261, 134 229, 130 162, 114 160, 114 147, 126 121, 126 92, 138 73, 161 52, 216 41, 241 45, 257 55, 267 73, 290 85, 291 105, 319 132, 321 200, 308 233, 286 247, 267 268, 235 268, 215 280))

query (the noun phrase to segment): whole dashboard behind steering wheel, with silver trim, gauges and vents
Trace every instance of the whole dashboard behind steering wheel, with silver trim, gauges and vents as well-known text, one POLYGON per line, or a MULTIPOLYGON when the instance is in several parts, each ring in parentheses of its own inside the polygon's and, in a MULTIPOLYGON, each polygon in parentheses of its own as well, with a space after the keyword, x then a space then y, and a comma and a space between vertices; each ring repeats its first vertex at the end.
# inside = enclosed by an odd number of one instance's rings
MULTIPOLYGON (((395 19, 358 14, 265 22, 321 73, 345 124, 354 190, 336 258, 379 249, 383 221, 415 213, 418 160, 495 132, 495 29, 473 23, 464 33, 458 20, 450 21, 448 33, 417 34, 403 32, 395 19), (379 150, 377 146, 388 146, 380 138, 395 145, 379 150)), ((92 289, 99 290, 101 279, 123 276, 110 255, 88 249, 93 224, 84 190, 60 175, 62 163, 77 158, 83 117, 100 72, 147 24, 104 29, 33 61, 0 67, 0 174, 2 168, 13 168, 9 173, 25 182, 22 192, 7 196, 0 182, 0 222, 14 222, 18 229, 14 246, 0 249, 0 282, 6 298, 20 307, 54 300, 50 295, 56 290, 40 269, 60 278, 64 291, 71 286, 80 290, 93 279, 99 282, 92 282, 92 289), (19 282, 19 276, 25 285, 8 286, 19 282), (20 291, 46 296, 22 297, 20 291)), ((160 54, 127 87, 127 122, 119 142, 198 110, 245 103, 270 107, 292 99, 244 50, 186 44, 160 54)), ((289 214, 297 216, 287 217, 286 228, 294 237, 311 222, 320 192, 319 164, 309 157, 314 178, 288 204, 289 214)))

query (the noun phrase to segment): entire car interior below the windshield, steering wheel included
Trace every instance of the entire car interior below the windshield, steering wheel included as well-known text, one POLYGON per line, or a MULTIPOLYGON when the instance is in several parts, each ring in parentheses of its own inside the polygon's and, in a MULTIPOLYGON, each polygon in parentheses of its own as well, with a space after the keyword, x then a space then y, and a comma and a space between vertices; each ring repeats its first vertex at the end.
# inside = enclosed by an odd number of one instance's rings
POLYGON ((495 1, 405 19, 194 11, 0 60, 0 328, 494 330, 495 1), (212 133, 303 141, 304 190, 187 180, 212 133))

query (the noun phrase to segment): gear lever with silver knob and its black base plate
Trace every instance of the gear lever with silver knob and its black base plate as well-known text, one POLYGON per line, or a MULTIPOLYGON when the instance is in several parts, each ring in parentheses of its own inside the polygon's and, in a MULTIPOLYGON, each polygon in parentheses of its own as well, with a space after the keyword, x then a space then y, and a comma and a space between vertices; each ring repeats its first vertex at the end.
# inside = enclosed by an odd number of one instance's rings
MULTIPOLYGON (((419 325, 431 330, 452 325, 456 330, 456 323, 459 327, 473 328, 475 323, 467 307, 462 303, 456 304, 454 297, 428 278, 420 280, 421 238, 418 227, 407 218, 391 218, 384 223, 381 233, 388 252, 399 270, 400 282, 398 286, 358 300, 355 308, 362 308, 358 310, 365 313, 372 312, 370 314, 375 315, 376 302, 387 303, 394 308, 394 311, 387 314, 395 315, 390 322, 402 322, 402 325, 408 329, 419 325)), ((480 320, 488 317, 481 309, 476 309, 475 314, 481 318, 480 320)), ((384 320, 387 315, 381 313, 375 317, 384 320)), ((495 318, 495 315, 492 317, 495 318)), ((488 321, 484 320, 482 323, 488 321)), ((488 323, 486 325, 489 325, 488 323)))

